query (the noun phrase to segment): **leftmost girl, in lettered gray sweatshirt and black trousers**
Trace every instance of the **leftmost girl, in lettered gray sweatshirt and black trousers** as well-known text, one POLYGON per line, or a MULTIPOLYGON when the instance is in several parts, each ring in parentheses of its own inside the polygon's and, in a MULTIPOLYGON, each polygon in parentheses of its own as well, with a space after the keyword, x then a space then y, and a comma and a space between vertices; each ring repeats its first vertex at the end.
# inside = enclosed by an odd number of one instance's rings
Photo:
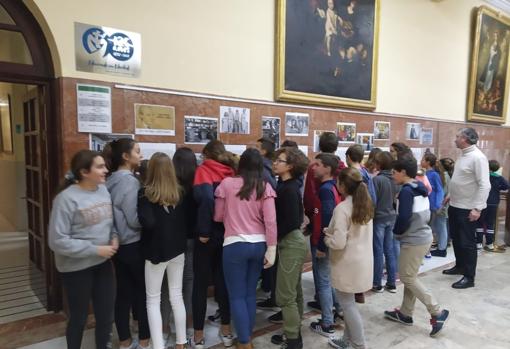
POLYGON ((90 300, 97 349, 106 349, 112 330, 115 285, 109 259, 117 252, 118 239, 111 197, 104 186, 107 173, 99 153, 76 153, 66 182, 53 201, 48 243, 69 305, 69 349, 81 347, 90 300))

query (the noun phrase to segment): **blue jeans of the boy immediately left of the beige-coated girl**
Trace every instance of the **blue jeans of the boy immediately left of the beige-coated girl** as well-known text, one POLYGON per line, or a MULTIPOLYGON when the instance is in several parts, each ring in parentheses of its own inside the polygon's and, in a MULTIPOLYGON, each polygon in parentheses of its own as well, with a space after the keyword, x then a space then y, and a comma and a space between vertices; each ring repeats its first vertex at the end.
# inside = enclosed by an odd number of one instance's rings
POLYGON ((314 280, 316 283, 315 292, 319 295, 321 303, 322 323, 324 326, 333 325, 333 306, 340 311, 340 304, 336 297, 336 291, 331 286, 331 266, 329 264, 329 251, 326 257, 317 258, 317 246, 312 246, 312 269, 314 270, 314 280))

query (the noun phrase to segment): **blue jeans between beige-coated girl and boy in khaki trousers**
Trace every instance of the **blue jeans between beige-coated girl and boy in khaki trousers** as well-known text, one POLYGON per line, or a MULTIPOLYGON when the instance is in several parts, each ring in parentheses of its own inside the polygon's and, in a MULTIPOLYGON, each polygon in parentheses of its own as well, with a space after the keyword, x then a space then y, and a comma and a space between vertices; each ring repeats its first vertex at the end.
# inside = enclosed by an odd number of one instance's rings
POLYGON ((395 286, 397 262, 393 245, 394 223, 393 221, 374 223, 374 286, 381 286, 384 260, 386 260, 386 271, 388 272, 386 283, 395 286))

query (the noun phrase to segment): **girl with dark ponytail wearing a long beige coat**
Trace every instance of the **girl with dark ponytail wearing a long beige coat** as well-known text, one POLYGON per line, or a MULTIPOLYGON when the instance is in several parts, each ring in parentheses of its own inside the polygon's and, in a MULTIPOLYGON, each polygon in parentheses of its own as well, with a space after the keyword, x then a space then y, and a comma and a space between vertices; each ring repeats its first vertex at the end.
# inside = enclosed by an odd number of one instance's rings
POLYGON ((345 331, 343 338, 332 337, 329 341, 335 348, 347 348, 350 343, 365 348, 363 322, 354 294, 372 287, 374 205, 361 173, 355 168, 340 172, 337 187, 345 199, 333 211, 324 242, 330 248, 331 282, 344 310, 345 331))

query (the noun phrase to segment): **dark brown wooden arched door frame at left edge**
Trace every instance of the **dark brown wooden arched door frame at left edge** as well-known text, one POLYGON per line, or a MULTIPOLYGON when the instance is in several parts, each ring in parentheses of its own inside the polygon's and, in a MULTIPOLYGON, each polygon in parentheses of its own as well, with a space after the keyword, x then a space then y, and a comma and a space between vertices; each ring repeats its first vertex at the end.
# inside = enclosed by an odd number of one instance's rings
MULTIPOLYGON (((14 24, 0 23, 0 30, 18 32, 23 35, 32 56, 33 64, 19 64, 0 62, 0 81, 6 83, 19 83, 36 85, 40 97, 40 122, 45 123, 44 134, 41 137, 46 141, 46 185, 42 191, 44 222, 49 221, 52 200, 56 195, 60 178, 60 164, 62 158, 62 130, 60 88, 55 77, 53 59, 46 36, 37 19, 22 1, 0 0, 2 6, 11 16, 14 24)), ((43 156, 40 156, 40 160, 43 156)), ((47 261, 45 268, 47 309, 59 311, 62 309, 62 287, 55 267, 53 252, 48 246, 47 226, 44 227, 44 258, 47 261)))

